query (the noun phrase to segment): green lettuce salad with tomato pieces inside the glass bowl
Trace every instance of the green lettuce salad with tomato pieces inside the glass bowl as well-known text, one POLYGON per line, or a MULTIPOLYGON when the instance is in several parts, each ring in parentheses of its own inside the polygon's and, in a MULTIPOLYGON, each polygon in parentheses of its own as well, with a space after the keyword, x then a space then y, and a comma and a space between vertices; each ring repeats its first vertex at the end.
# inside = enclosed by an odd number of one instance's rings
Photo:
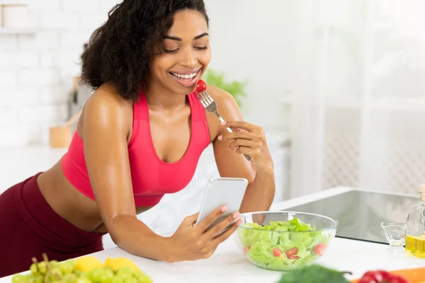
POLYGON ((323 255, 331 238, 331 233, 315 231, 310 224, 297 218, 271 221, 266 226, 248 223, 241 227, 254 228, 237 231, 244 253, 251 262, 269 270, 291 270, 312 262, 314 258, 323 255), (280 233, 281 231, 305 233, 280 233))

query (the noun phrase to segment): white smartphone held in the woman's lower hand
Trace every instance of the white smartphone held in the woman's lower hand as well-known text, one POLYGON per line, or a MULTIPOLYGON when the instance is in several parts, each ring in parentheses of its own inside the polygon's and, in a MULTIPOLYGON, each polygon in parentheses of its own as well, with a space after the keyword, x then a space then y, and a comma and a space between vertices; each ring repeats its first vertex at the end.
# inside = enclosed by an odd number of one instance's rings
MULTIPOLYGON (((205 219, 217 207, 227 205, 227 212, 222 214, 207 230, 229 214, 239 211, 245 195, 248 180, 245 178, 212 178, 208 181, 196 224, 205 219)), ((228 228, 228 227, 227 227, 228 228)), ((222 231, 224 232, 224 231, 222 231)), ((221 233, 222 233, 221 232, 221 233)))

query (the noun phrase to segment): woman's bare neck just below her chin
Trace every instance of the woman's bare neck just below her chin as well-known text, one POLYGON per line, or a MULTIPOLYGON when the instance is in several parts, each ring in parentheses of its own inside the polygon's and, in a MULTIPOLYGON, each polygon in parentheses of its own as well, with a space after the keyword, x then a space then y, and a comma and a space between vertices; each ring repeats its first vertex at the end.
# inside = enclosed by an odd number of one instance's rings
POLYGON ((157 110, 177 110, 186 105, 186 96, 171 92, 159 83, 150 81, 145 85, 145 96, 149 108, 157 110))

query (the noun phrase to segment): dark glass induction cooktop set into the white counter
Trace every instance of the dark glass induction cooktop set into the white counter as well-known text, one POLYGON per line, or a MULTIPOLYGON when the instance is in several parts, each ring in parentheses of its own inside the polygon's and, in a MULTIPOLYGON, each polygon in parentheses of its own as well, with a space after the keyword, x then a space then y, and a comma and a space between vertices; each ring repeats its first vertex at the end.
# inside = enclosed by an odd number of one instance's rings
POLYGON ((387 243, 381 222, 405 222, 419 196, 351 190, 283 209, 322 214, 339 221, 336 237, 387 243))

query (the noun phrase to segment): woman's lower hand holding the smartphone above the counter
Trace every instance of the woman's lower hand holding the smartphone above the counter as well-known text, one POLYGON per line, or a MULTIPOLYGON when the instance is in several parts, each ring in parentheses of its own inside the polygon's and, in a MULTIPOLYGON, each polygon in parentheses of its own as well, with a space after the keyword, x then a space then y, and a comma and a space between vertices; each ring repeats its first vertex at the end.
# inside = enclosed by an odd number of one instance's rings
POLYGON ((198 219, 198 213, 187 216, 180 224, 179 229, 177 229, 174 235, 169 238, 171 241, 171 247, 169 250, 169 256, 166 257, 166 261, 178 262, 183 260, 200 260, 210 258, 210 256, 215 252, 217 246, 229 238, 229 236, 236 231, 237 227, 241 223, 240 219, 234 221, 237 217, 239 217, 239 212, 233 212, 220 222, 217 222, 217 224, 207 231, 208 227, 210 227, 210 225, 226 211, 226 206, 218 207, 196 226, 195 224, 198 219), (229 229, 220 235, 217 235, 226 229, 227 226, 229 226, 229 229))

